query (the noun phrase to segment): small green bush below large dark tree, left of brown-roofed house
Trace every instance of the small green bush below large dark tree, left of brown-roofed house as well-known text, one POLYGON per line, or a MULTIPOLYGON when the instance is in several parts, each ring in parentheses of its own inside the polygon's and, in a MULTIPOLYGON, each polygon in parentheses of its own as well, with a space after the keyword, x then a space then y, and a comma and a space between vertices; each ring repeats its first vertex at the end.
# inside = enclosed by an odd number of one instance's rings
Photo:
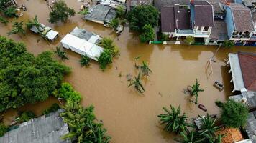
POLYGON ((141 42, 148 42, 154 40, 155 32, 150 24, 146 24, 145 26, 143 26, 142 32, 143 33, 140 35, 141 42))

